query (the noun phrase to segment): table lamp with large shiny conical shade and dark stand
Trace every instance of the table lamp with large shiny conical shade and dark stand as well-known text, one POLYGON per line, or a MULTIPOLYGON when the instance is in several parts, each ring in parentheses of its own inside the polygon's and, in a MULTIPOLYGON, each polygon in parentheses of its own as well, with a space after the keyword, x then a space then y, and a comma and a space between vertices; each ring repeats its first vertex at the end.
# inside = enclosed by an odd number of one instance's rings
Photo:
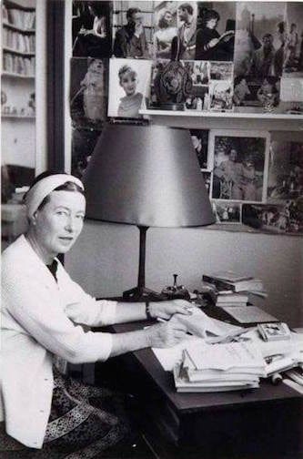
POLYGON ((137 286, 129 301, 160 301, 146 289, 146 230, 214 223, 207 189, 187 129, 108 124, 84 174, 86 217, 136 225, 137 286))

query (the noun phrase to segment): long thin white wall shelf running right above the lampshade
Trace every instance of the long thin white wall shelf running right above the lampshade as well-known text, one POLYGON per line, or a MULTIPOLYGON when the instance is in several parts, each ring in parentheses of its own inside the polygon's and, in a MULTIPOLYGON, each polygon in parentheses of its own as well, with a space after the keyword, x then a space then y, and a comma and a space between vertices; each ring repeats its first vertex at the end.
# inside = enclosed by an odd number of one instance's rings
POLYGON ((302 115, 289 115, 288 113, 281 112, 272 112, 264 113, 260 112, 239 112, 239 111, 229 111, 229 112, 216 112, 216 111, 199 111, 197 110, 184 110, 184 111, 174 111, 174 110, 153 110, 153 109, 144 109, 139 110, 140 115, 148 116, 160 116, 160 117, 217 117, 217 118, 256 118, 256 119, 293 119, 299 120, 303 119, 302 115))

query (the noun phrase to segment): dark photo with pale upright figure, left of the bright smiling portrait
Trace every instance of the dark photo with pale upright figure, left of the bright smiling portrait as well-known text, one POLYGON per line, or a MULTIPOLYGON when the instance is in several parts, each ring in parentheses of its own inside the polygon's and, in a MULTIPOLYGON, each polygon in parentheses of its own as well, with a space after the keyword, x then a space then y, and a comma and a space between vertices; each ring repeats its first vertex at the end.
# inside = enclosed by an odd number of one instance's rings
POLYGON ((69 106, 74 128, 103 127, 107 111, 107 78, 107 59, 71 59, 69 106))

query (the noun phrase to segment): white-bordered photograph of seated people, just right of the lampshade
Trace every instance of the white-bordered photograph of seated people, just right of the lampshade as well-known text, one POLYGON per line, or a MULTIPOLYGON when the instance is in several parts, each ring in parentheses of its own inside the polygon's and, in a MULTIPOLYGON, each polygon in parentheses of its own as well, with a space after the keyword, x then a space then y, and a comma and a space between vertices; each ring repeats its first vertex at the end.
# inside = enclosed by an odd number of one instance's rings
POLYGON ((264 202, 268 180, 268 132, 211 130, 212 199, 264 202))

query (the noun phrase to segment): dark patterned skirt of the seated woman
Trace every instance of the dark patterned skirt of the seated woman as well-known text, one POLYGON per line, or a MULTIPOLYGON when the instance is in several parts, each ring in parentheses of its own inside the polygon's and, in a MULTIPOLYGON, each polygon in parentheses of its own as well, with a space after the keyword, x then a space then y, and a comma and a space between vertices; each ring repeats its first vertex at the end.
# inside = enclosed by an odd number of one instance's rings
MULTIPOLYGON (((4 423, 1 423, 0 457, 1 459, 106 457, 105 450, 110 451, 114 445, 118 445, 118 448, 121 445, 123 448, 126 444, 130 445, 134 438, 125 405, 126 397, 121 393, 77 382, 58 372, 54 366, 52 407, 43 448, 41 450, 26 448, 24 444, 8 436, 5 433, 4 423)), ((30 419, 28 422, 31 422, 30 419)), ((115 457, 119 456, 115 455, 115 457)))

